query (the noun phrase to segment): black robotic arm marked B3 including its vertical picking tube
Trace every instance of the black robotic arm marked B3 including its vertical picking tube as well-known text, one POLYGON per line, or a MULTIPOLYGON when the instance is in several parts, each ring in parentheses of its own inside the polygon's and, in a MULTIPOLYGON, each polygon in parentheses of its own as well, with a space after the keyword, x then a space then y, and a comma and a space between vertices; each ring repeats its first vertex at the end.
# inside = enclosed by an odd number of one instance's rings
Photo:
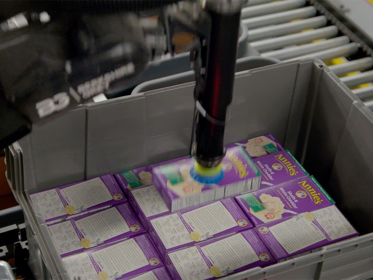
MULTIPOLYGON (((127 12, 149 1, 123 1, 117 7, 103 2, 101 10, 90 2, 21 2, 38 9, 22 14, 29 24, 14 30, 9 28, 14 22, 0 24, 1 146, 29 133, 32 124, 128 82, 157 55, 172 53, 172 35, 179 27, 198 37, 191 51, 196 77, 192 153, 203 167, 219 165, 225 155, 226 111, 232 101, 240 13, 246 1, 181 1, 168 6, 163 17, 166 34, 154 21, 139 19, 141 9, 127 12), (75 3, 87 13, 73 9, 75 3), (42 20, 43 8, 51 14, 50 22, 42 20), (112 13, 121 8, 126 13, 112 13)), ((92 3, 96 2, 100 1, 92 3)), ((19 7, 3 11, 14 15, 22 11, 15 10, 19 7)))

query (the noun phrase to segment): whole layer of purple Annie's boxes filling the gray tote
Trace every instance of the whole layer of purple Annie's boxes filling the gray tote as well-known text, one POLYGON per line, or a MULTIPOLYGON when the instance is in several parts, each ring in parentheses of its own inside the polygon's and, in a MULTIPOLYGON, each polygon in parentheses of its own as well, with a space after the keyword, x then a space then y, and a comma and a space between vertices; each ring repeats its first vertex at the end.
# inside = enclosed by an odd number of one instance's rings
POLYGON ((30 195, 69 276, 216 279, 358 235, 270 134, 229 145, 214 184, 195 181, 193 164, 185 156, 30 195))

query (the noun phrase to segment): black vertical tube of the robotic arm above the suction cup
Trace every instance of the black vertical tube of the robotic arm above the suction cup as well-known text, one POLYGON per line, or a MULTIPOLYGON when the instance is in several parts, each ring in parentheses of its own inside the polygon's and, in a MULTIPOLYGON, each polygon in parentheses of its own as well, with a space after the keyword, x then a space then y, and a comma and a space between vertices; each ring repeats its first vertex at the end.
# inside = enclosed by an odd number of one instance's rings
POLYGON ((206 87, 195 94, 207 115, 203 116, 199 111, 195 119, 194 156, 203 167, 217 166, 225 156, 225 119, 232 102, 241 12, 220 14, 210 10, 209 14, 211 32, 204 73, 206 87))

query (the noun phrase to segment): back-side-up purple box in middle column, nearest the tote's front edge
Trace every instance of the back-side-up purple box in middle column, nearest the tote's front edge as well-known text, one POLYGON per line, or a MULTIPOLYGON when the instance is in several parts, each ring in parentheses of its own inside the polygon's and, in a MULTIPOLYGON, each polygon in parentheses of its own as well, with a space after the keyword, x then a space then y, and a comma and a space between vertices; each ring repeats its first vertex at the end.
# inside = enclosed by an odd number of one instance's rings
POLYGON ((172 279, 216 279, 275 261, 254 230, 167 253, 172 279))

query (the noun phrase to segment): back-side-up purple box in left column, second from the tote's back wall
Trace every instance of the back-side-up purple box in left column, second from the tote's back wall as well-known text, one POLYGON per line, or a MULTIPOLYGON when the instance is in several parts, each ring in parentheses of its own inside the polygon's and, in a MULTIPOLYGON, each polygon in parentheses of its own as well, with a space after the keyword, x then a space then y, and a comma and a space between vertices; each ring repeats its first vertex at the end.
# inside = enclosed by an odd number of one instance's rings
POLYGON ((62 257, 145 233, 128 203, 49 225, 48 229, 62 257))

